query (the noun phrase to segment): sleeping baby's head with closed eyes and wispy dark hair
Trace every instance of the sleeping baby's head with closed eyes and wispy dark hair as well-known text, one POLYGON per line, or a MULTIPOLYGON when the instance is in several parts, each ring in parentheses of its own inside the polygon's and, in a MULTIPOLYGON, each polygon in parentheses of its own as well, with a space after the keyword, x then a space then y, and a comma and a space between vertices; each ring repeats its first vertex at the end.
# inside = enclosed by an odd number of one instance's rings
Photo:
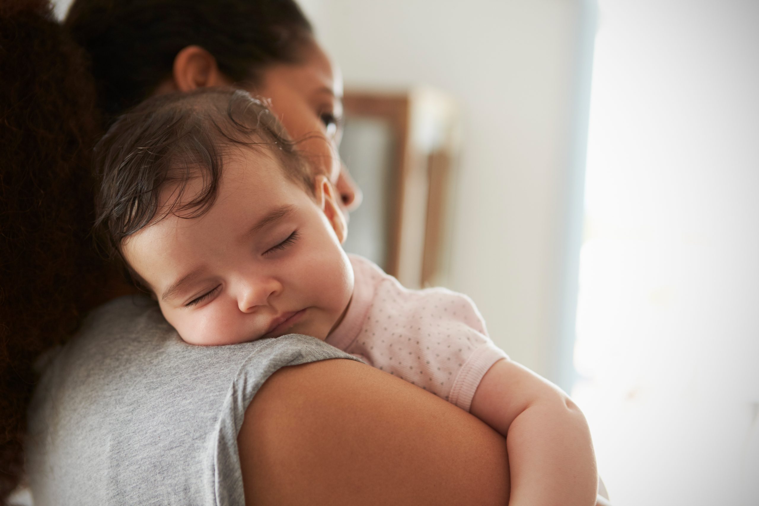
POLYGON ((324 339, 342 319, 353 271, 334 190, 247 93, 150 99, 96 156, 96 230, 184 341, 324 339))

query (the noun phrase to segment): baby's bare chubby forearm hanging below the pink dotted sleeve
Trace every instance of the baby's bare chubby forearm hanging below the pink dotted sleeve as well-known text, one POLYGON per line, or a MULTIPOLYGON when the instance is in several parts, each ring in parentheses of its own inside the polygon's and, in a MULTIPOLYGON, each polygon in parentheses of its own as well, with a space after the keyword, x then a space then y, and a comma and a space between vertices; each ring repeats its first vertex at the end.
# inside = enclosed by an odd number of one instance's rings
POLYGON ((510 506, 596 504, 596 460, 585 417, 556 385, 499 360, 483 376, 471 413, 506 438, 510 506))

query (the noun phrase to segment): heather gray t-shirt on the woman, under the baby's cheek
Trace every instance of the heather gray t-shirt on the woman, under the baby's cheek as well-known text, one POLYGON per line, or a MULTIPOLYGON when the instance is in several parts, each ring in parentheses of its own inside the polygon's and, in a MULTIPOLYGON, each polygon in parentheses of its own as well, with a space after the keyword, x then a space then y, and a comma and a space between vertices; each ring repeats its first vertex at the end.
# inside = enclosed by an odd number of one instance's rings
POLYGON ((280 367, 332 358, 354 357, 303 335, 192 346, 150 300, 108 303, 40 365, 34 504, 244 504, 237 435, 250 400, 280 367))

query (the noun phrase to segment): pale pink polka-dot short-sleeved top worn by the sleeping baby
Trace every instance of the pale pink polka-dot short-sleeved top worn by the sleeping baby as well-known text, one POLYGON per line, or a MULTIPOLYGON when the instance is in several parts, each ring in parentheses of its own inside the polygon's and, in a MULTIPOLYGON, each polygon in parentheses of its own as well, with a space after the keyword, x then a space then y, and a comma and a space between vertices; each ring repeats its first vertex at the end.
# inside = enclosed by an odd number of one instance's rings
POLYGON ((471 299, 446 288, 409 290, 349 257, 353 297, 326 342, 468 411, 487 370, 506 357, 471 299))

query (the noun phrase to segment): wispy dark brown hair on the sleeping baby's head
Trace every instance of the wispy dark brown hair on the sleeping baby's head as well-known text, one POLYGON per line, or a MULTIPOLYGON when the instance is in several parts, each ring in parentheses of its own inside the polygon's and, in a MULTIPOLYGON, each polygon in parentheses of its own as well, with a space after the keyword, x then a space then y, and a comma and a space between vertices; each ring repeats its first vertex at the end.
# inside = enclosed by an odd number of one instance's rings
POLYGON ((313 175, 295 143, 266 105, 242 90, 203 88, 153 97, 118 118, 99 141, 96 237, 138 287, 145 288, 124 259, 124 240, 168 215, 205 214, 219 192, 222 155, 235 146, 275 157, 286 178, 313 194, 313 175), (195 178, 202 179, 202 189, 186 198, 195 178), (166 184, 175 190, 162 203, 166 184))

